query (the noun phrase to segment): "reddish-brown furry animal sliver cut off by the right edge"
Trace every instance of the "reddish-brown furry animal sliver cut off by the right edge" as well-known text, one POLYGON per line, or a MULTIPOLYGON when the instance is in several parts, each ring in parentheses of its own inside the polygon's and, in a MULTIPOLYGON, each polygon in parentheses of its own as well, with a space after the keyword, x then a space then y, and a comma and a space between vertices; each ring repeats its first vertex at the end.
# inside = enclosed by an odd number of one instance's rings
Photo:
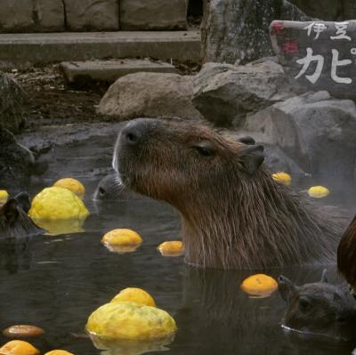
POLYGON ((356 217, 353 218, 337 248, 337 269, 356 291, 356 217))

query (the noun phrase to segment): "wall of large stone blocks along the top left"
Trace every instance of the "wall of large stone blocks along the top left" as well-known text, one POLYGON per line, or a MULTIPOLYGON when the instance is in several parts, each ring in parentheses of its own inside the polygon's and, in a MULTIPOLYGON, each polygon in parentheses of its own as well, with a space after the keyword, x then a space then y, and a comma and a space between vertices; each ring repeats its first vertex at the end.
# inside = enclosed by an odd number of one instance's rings
POLYGON ((0 32, 187 29, 189 0, 0 0, 0 32))

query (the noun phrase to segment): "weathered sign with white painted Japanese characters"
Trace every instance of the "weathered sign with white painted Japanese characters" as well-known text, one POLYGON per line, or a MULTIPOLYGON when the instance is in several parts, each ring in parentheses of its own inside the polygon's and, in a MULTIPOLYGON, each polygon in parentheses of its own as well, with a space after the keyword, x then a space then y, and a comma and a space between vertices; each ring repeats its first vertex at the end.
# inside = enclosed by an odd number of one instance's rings
POLYGON ((271 43, 296 91, 356 99, 356 20, 275 20, 271 43))

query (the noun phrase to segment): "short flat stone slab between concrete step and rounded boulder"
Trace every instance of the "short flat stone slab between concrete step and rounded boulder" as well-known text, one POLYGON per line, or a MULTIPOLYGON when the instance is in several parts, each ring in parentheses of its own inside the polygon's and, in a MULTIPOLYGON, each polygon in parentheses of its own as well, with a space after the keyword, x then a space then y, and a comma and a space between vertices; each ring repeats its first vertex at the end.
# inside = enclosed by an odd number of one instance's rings
POLYGON ((61 70, 69 83, 83 80, 113 83, 119 77, 141 71, 175 73, 173 65, 164 61, 111 60, 111 61, 64 61, 61 70))

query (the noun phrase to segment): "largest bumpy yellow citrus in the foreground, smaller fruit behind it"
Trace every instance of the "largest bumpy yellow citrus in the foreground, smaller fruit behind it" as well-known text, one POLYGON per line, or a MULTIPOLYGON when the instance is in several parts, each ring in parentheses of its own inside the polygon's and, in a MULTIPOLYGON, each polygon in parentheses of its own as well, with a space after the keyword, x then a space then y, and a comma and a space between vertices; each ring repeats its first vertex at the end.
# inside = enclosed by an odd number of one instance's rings
POLYGON ((147 341, 174 334, 174 319, 156 307, 134 302, 112 302, 89 316, 86 330, 105 340, 147 341))

